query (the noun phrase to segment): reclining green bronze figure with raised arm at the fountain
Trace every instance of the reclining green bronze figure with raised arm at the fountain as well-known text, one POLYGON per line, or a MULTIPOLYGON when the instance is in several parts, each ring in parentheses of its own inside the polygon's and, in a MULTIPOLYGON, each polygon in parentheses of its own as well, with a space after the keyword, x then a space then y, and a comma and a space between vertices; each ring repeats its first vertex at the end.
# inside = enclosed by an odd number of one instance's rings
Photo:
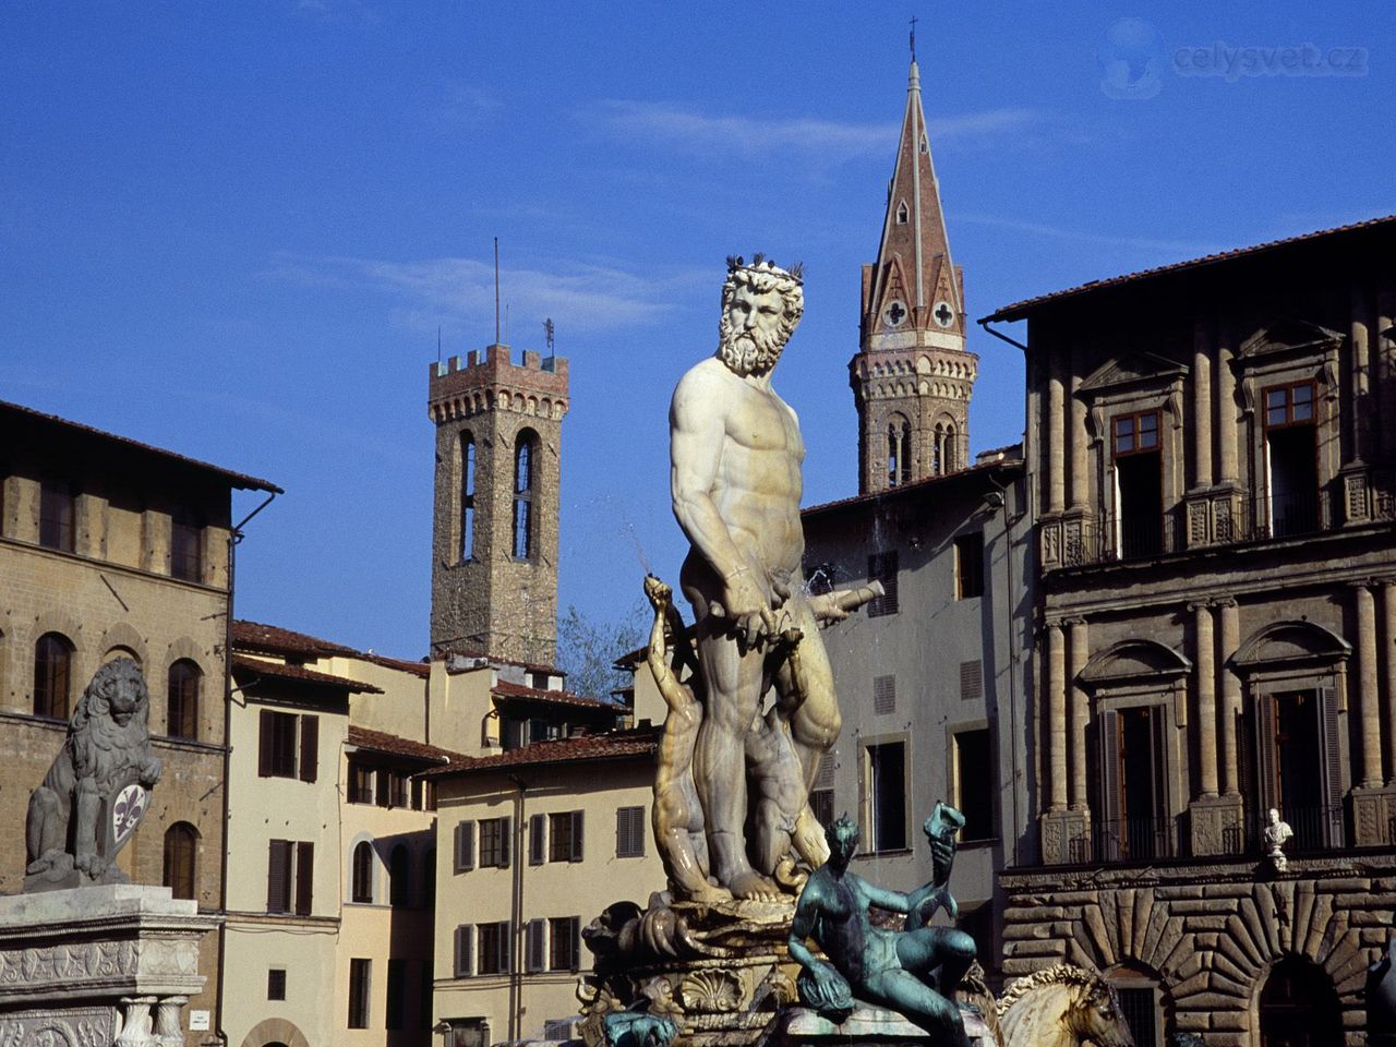
POLYGON ((951 927, 927 926, 938 909, 958 906, 946 889, 955 859, 955 833, 965 818, 937 804, 926 819, 931 845, 931 882, 910 893, 870 884, 849 871, 859 826, 846 814, 825 835, 829 860, 804 885, 790 924, 790 956, 800 972, 800 998, 822 1016, 842 1022, 854 998, 899 1012, 946 1047, 969 1047, 955 988, 974 960, 974 940, 951 927), (905 931, 875 927, 872 907, 906 913, 905 931), (818 959, 814 938, 829 958, 818 959))

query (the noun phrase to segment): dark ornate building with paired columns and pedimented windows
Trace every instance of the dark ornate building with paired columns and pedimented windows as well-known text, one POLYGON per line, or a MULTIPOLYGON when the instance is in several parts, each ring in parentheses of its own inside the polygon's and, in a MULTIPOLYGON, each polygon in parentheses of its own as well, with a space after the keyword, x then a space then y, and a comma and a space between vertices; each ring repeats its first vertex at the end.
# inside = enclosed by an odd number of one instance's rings
POLYGON ((1376 219, 986 320, 1027 321, 1037 522, 1004 967, 1104 970, 1141 1047, 1362 1041, 1396 917, 1393 247, 1376 219))

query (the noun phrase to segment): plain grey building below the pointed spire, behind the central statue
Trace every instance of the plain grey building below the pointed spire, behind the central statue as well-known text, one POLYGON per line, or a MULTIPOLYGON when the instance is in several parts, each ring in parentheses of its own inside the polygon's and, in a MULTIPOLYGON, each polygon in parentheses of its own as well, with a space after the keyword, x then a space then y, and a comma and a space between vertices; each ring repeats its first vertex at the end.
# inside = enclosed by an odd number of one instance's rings
POLYGON ((857 818, 857 871, 899 891, 931 878, 921 822, 937 801, 958 807, 966 826, 951 891, 994 981, 995 877, 1033 842, 1019 727, 1032 535, 1022 479, 1022 459, 997 452, 949 476, 801 514, 811 591, 872 579, 886 589, 821 634, 843 729, 811 804, 825 824, 845 811, 857 818))

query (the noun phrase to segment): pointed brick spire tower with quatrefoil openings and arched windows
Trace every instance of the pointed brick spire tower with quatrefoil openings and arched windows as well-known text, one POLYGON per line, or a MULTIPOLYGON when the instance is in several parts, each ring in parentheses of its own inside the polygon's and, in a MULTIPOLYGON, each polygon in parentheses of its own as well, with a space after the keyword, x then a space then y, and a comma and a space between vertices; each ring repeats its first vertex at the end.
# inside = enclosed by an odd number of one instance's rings
POLYGON ((945 235, 913 42, 882 240, 877 262, 863 267, 860 348, 849 362, 861 494, 966 466, 977 370, 965 349, 965 278, 945 235))

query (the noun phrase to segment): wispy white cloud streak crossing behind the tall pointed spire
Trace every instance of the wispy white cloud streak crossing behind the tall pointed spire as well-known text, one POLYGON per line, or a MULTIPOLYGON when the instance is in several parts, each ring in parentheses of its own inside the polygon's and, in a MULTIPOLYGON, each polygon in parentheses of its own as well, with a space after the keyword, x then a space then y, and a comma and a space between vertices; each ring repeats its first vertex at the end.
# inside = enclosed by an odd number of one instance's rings
MULTIPOLYGON (((804 155, 843 162, 884 155, 896 142, 898 123, 846 123, 815 117, 752 117, 702 113, 667 102, 607 101, 581 113, 584 123, 617 137, 644 138, 681 152, 716 156, 804 155)), ((937 148, 958 148, 1040 124, 1032 109, 988 109, 930 120, 937 148)))

